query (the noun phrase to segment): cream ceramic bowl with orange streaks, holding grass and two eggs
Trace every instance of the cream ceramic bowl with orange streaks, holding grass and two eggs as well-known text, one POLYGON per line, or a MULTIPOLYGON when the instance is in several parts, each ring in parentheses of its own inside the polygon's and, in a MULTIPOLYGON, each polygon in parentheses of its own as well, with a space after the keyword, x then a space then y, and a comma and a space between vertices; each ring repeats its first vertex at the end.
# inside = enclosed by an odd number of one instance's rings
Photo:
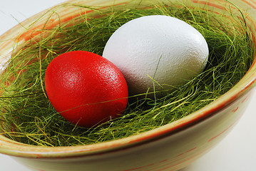
MULTIPOLYGON (((127 2, 124 0, 67 1, 68 4, 86 4, 98 6, 98 8, 107 8, 113 4, 118 6, 127 2)), ((256 1, 230 0, 230 2, 246 12, 248 27, 255 40, 256 1)), ((150 1, 143 1, 140 5, 144 3, 150 3, 150 1)), ((230 6, 230 3, 225 0, 188 0, 187 3, 188 6, 200 6, 217 13, 227 12, 225 9, 230 6)), ((80 14, 93 15, 93 11, 78 9, 77 6, 62 4, 53 9, 58 12, 60 20, 49 20, 47 28, 52 28, 59 22, 64 23, 75 19, 80 14)), ((236 9, 232 10, 234 14, 239 13, 236 9)), ((14 43, 24 43, 30 36, 36 36, 39 33, 36 30, 43 26, 44 19, 48 18, 47 15, 46 11, 43 11, 24 21, 23 27, 15 26, 0 37, 0 63, 8 58, 14 43), (39 17, 41 19, 37 20, 39 17), (36 21, 34 25, 30 26, 34 21, 36 21)), ((230 133, 247 107, 251 92, 256 85, 255 80, 254 62, 237 85, 210 105, 183 119, 140 135, 95 145, 73 147, 25 145, 0 135, 0 152, 14 157, 31 170, 180 170, 204 155, 230 133)))

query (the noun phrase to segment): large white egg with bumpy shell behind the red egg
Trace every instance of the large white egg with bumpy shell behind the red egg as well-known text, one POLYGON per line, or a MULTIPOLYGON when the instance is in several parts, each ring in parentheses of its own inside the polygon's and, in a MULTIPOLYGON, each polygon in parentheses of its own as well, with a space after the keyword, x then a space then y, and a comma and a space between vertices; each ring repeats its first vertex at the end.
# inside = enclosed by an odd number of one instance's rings
POLYGON ((193 26, 171 16, 143 16, 118 28, 103 51, 130 95, 168 90, 194 78, 208 61, 208 44, 193 26))

